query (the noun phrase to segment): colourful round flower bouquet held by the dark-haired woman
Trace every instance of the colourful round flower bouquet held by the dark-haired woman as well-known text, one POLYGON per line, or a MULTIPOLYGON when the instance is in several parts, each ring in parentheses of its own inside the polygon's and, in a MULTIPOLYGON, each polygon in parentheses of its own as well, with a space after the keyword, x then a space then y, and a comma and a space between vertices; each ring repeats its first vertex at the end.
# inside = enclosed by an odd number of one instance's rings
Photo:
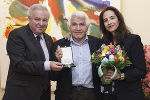
MULTIPOLYGON (((102 44, 101 48, 92 54, 91 62, 98 66, 99 77, 103 77, 109 70, 114 70, 111 79, 114 79, 121 69, 132 64, 120 45, 105 44, 102 44)), ((109 84, 105 80, 102 80, 102 82, 103 84, 109 84)))

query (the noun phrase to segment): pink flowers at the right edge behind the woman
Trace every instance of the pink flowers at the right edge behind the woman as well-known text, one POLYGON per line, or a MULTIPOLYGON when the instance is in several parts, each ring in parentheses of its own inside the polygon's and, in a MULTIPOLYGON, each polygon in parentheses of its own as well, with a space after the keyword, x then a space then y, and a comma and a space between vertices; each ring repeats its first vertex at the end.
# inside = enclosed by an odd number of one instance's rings
POLYGON ((150 45, 144 46, 147 74, 142 80, 142 87, 146 100, 150 100, 150 45))

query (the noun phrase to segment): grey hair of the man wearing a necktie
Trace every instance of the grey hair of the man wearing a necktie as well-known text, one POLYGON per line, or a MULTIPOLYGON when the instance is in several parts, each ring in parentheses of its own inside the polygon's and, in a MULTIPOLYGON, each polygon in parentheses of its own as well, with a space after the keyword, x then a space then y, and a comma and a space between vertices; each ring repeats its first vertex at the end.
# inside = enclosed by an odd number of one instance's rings
POLYGON ((29 16, 32 17, 32 13, 34 10, 39 9, 39 10, 46 10, 48 12, 48 15, 50 16, 50 11, 49 8, 44 5, 44 4, 33 4, 30 9, 29 9, 29 16))

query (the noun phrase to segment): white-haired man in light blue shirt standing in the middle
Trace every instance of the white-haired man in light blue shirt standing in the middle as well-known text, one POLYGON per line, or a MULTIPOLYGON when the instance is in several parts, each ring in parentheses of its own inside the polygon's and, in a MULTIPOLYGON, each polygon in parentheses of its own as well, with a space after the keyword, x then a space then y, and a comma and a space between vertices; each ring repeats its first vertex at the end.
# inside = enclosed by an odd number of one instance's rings
POLYGON ((84 12, 74 12, 68 24, 70 40, 64 38, 58 40, 54 43, 53 50, 57 49, 56 58, 61 61, 60 47, 71 46, 76 67, 66 68, 57 73, 55 100, 97 100, 93 86, 93 69, 96 67, 92 67, 91 55, 99 49, 102 42, 96 37, 87 35, 89 20, 84 12))

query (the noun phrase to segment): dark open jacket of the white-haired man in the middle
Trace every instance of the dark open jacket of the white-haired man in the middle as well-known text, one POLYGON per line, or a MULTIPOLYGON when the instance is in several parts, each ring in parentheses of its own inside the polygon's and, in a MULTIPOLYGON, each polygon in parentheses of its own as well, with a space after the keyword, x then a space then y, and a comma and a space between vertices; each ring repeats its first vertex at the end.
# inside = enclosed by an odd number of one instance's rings
MULTIPOLYGON (((102 42, 100 39, 88 36, 88 43, 90 47, 91 54, 99 49, 102 42)), ((54 43, 54 51, 56 50, 57 45, 61 47, 70 46, 70 41, 66 39, 58 40, 54 43)), ((94 67, 92 68, 94 69, 94 67)), ((71 69, 64 69, 61 72, 58 72, 57 76, 57 87, 55 91, 55 100, 71 100, 72 98, 72 71, 71 69)))

